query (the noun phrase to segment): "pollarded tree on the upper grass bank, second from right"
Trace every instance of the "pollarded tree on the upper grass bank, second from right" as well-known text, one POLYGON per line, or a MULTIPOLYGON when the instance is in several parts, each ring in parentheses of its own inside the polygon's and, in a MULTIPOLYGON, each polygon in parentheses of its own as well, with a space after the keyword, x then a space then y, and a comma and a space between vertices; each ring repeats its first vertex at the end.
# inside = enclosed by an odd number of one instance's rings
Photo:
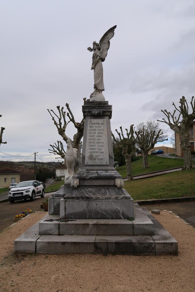
POLYGON ((143 168, 148 168, 148 152, 154 148, 157 142, 168 140, 166 133, 160 129, 159 123, 155 121, 147 121, 137 126, 135 134, 137 136, 137 145, 141 149, 143 168))

